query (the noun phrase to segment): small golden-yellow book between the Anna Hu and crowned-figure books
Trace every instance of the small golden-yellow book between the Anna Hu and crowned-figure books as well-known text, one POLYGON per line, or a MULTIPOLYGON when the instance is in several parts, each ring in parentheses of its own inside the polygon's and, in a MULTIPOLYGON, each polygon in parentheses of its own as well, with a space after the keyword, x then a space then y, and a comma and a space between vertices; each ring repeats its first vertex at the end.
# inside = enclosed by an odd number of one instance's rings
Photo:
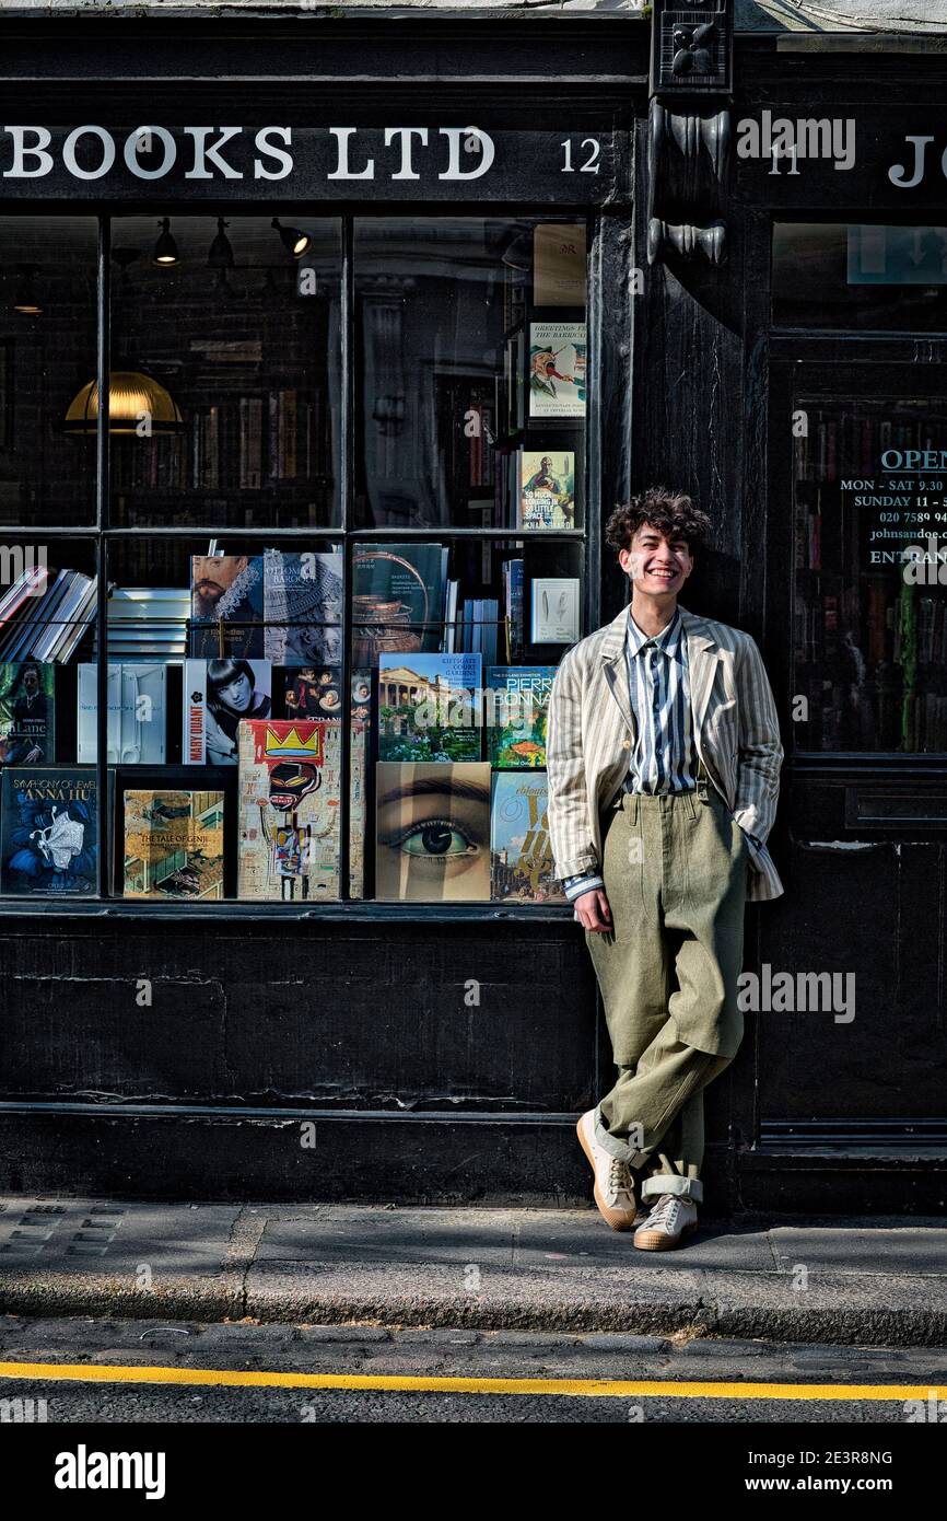
POLYGON ((128 789, 126 897, 223 897, 223 792, 128 789))

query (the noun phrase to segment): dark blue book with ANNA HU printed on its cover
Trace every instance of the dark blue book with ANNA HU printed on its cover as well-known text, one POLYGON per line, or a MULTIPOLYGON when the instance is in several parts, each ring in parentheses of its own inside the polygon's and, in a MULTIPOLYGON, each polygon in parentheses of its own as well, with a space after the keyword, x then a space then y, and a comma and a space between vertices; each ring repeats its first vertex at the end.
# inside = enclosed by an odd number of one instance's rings
POLYGON ((0 891, 15 897, 96 893, 96 773, 6 767, 0 802, 0 891))

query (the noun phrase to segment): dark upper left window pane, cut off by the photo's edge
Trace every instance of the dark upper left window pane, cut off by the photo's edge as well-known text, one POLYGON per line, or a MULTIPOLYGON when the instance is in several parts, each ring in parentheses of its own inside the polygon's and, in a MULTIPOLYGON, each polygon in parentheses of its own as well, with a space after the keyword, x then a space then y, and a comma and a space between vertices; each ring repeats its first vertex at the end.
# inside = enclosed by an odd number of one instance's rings
POLYGON ((0 218, 0 523, 96 522, 96 441, 71 406, 96 379, 99 228, 0 218))

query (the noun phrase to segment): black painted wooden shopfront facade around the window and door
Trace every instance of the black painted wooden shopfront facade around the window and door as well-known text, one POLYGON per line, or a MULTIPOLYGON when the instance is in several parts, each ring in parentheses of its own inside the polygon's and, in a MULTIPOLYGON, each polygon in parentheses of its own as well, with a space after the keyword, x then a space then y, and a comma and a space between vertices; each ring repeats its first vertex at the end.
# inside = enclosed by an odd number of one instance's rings
MULTIPOLYGON (((669 152, 649 166, 649 27, 626 17, 6 26, 8 122, 302 126, 344 111, 365 123, 614 132, 619 172, 596 208, 593 248, 599 513, 661 479, 716 517, 714 551, 686 601, 759 640, 787 748, 771 840, 786 896, 749 908, 746 966, 851 969, 859 980, 851 1025, 821 1013, 748 1016, 743 1048, 707 1098, 714 1212, 930 1211, 942 1199, 947 754, 793 756, 787 415, 800 367, 815 392, 835 394, 845 367, 866 394, 882 370, 903 388, 923 374, 933 394, 947 370, 947 324, 923 339, 815 325, 774 333, 769 271, 772 219, 947 222, 936 161, 918 190, 898 192, 888 176, 904 161, 904 134, 930 132, 938 151, 947 146, 945 68, 935 53, 793 53, 772 38, 737 38, 733 97, 705 103, 705 116, 728 108, 736 125, 763 108, 848 114, 860 126, 859 158, 847 173, 810 163, 787 176, 731 152, 717 179, 711 151, 684 164, 669 152), (649 214, 721 221, 725 260, 686 260, 666 245, 649 263, 649 214), (882 800, 869 827, 863 799, 882 800), (885 799, 914 800, 907 818, 885 799)), ((699 116, 693 102, 681 111, 699 116)), ((82 201, 62 181, 53 189, 23 198, 0 189, 0 211, 112 204, 82 201)), ((220 204, 237 202, 263 204, 252 181, 226 187, 220 204)), ((190 204, 188 187, 163 204, 190 204)), ((354 195, 333 204, 365 207, 354 195)), ((374 195, 371 204, 394 202, 374 195)), ((404 187, 397 204, 413 204, 404 187)), ((471 195, 465 208, 480 204, 471 195)), ((538 167, 531 184, 527 151, 502 204, 549 204, 538 167)), ((150 208, 154 196, 122 205, 150 208)), ((602 561, 590 627, 611 618, 622 595, 622 576, 602 561)), ((302 917, 214 905, 157 916, 125 903, 67 916, 3 903, 0 937, 3 1186, 587 1199, 575 1119, 611 1068, 570 910, 353 903, 302 917), (137 1007, 140 978, 154 981, 150 1007, 137 1007), (479 1007, 464 998, 470 978, 482 984, 479 1007), (307 1119, 315 1147, 299 1144, 307 1119)))

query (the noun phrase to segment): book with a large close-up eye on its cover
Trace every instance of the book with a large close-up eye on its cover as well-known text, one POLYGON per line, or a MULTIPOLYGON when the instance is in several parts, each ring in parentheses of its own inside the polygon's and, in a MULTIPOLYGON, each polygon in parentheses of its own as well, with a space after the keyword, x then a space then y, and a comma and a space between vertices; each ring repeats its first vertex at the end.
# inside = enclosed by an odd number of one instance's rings
POLYGON ((489 765, 485 760, 375 767, 375 897, 489 899, 489 765))

